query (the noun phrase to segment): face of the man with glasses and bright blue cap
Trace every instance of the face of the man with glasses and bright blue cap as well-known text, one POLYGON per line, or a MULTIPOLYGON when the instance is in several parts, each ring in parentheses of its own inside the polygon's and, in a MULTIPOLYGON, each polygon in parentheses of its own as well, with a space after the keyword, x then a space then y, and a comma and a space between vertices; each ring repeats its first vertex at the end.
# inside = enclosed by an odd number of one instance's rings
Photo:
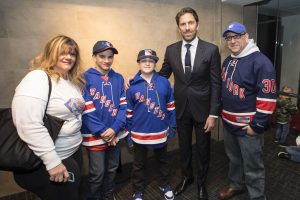
POLYGON ((233 55, 239 55, 245 49, 248 44, 248 37, 249 35, 247 33, 227 33, 225 40, 227 42, 228 49, 232 52, 233 55))

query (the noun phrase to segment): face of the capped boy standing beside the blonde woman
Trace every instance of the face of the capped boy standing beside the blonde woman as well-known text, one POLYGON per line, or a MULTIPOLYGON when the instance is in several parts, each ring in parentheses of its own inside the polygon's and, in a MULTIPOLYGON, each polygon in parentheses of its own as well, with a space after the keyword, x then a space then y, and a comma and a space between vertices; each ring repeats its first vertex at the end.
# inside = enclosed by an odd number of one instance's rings
POLYGON ((97 69, 102 74, 107 74, 111 69, 111 65, 114 61, 114 52, 111 49, 108 49, 106 51, 102 51, 93 55, 93 59, 97 69))

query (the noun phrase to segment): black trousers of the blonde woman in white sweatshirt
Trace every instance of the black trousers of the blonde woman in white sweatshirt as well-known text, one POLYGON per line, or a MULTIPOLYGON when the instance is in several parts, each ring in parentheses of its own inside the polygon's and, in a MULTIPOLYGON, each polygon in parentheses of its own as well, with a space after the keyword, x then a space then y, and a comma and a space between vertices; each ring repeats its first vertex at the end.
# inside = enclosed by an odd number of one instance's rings
POLYGON ((82 165, 81 149, 71 157, 64 159, 62 163, 68 172, 74 174, 74 182, 56 183, 50 181, 45 165, 32 172, 14 173, 15 181, 19 186, 35 193, 42 200, 78 200, 82 165))

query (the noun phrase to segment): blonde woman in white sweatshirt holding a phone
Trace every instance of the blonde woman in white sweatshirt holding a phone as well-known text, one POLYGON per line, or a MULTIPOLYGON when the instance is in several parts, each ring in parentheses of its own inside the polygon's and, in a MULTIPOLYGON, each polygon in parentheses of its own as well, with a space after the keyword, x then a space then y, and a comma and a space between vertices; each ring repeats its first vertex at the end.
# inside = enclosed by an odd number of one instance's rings
POLYGON ((15 90, 12 114, 20 138, 43 165, 32 172, 15 173, 15 181, 41 199, 79 199, 84 107, 79 47, 70 37, 55 36, 32 60, 30 69, 15 90), (44 126, 45 112, 65 121, 55 142, 44 126))

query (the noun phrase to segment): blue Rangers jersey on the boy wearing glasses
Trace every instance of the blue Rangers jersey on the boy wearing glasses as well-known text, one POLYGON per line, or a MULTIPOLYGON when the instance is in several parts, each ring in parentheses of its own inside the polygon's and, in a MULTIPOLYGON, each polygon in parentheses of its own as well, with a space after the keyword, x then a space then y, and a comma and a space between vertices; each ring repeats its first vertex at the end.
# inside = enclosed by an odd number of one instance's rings
POLYGON ((148 83, 138 72, 126 91, 127 128, 131 139, 147 147, 166 145, 168 134, 175 134, 176 114, 169 81, 154 72, 148 83))

